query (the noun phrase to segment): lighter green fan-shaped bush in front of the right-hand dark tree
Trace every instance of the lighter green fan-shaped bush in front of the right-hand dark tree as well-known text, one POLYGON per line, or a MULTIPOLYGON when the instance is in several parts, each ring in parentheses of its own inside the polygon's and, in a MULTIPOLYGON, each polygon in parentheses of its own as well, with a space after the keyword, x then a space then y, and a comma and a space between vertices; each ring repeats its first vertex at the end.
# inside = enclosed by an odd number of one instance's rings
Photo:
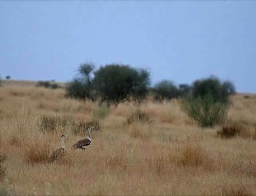
POLYGON ((187 98, 183 99, 182 109, 201 127, 222 124, 226 121, 228 113, 228 105, 215 102, 215 98, 211 94, 197 98, 187 96, 187 98))

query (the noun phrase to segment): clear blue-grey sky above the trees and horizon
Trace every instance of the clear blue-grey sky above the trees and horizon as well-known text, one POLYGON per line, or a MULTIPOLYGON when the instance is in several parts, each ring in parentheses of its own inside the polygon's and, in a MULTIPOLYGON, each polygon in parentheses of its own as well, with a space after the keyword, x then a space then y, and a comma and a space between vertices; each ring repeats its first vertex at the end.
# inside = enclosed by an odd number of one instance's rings
POLYGON ((2 78, 65 82, 91 61, 256 92, 256 1, 0 1, 0 26, 2 78))

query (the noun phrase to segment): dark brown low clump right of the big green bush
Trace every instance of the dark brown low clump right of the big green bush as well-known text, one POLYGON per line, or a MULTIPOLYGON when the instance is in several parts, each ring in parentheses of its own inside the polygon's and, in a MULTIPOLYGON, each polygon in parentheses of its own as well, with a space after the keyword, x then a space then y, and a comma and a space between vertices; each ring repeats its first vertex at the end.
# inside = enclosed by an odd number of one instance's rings
POLYGON ((250 137, 246 125, 241 122, 229 121, 217 131, 217 136, 222 138, 231 138, 236 136, 250 137))

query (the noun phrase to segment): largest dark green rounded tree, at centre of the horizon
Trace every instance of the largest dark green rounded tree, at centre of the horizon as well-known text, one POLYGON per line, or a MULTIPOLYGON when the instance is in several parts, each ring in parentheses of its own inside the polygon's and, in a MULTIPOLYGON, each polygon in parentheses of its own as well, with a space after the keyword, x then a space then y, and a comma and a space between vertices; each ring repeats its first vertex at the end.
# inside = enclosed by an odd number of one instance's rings
POLYGON ((149 73, 129 65, 109 64, 95 71, 93 83, 101 101, 118 105, 131 98, 143 100, 150 84, 149 73))

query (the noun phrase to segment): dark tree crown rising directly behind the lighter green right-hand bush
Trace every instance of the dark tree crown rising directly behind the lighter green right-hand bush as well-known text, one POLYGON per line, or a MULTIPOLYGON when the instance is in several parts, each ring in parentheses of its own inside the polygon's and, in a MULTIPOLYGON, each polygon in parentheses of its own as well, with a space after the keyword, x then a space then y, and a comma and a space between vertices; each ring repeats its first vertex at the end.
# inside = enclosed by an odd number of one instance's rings
POLYGON ((219 78, 210 76, 201 80, 195 80, 192 85, 193 97, 204 97, 211 94, 214 102, 228 102, 228 96, 235 94, 234 84, 229 81, 221 83, 219 78))

